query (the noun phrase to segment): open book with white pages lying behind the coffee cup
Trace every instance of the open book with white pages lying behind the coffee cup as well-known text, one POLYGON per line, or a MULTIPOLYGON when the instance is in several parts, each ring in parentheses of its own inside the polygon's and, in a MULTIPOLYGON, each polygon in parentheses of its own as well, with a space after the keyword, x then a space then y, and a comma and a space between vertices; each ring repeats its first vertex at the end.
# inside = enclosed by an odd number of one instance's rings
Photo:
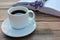
MULTIPOLYGON (((27 6, 28 3, 34 2, 36 0, 20 0, 13 6, 23 5, 30 9, 35 10, 32 6, 27 6)), ((47 0, 42 8, 39 8, 38 11, 46 13, 46 14, 52 14, 55 16, 60 16, 60 0, 47 0)))

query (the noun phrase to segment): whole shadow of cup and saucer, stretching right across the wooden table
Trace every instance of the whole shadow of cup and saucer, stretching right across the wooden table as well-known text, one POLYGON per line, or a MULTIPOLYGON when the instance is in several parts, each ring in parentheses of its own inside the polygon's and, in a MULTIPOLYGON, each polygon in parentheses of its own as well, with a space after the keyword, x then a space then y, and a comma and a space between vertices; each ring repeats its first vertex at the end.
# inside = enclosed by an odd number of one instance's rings
POLYGON ((54 35, 51 29, 44 29, 44 30, 35 30, 33 33, 31 33, 30 35, 27 35, 25 37, 19 37, 19 38, 13 38, 13 37, 9 37, 3 34, 5 40, 34 40, 34 38, 39 38, 41 36, 47 36, 48 37, 51 35, 54 35))

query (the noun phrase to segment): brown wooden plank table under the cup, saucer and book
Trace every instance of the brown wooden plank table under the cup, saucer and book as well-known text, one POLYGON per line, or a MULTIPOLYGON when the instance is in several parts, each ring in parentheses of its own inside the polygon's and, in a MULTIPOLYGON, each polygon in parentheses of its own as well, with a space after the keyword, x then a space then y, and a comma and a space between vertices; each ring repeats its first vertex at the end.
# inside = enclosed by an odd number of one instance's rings
MULTIPOLYGON (((0 8, 0 27, 8 15, 8 8, 0 8)), ((60 18, 47 15, 41 12, 35 12, 36 30, 22 38, 11 38, 4 35, 0 28, 0 40, 60 40, 60 18)))

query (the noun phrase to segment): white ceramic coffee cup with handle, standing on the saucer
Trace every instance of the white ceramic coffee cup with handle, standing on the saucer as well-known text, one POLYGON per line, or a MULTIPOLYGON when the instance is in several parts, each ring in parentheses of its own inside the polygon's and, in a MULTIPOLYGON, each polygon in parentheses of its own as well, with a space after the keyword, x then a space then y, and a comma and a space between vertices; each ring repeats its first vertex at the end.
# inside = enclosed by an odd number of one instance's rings
POLYGON ((28 8, 24 7, 24 6, 16 6, 16 7, 12 7, 8 10, 8 15, 9 15, 9 20, 10 20, 10 24, 11 27, 14 29, 21 29, 26 27, 26 25, 29 22, 29 19, 34 20, 35 19, 35 14, 32 10, 29 10, 28 8), (13 11, 16 10, 22 10, 25 11, 25 14, 11 14, 13 11))

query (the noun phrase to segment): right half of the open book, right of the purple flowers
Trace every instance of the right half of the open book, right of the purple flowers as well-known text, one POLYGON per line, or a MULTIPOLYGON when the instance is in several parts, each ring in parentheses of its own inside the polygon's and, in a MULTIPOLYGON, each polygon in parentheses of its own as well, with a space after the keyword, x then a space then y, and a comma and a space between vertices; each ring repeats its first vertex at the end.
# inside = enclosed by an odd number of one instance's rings
POLYGON ((39 11, 60 17, 60 0, 48 0, 39 11))

